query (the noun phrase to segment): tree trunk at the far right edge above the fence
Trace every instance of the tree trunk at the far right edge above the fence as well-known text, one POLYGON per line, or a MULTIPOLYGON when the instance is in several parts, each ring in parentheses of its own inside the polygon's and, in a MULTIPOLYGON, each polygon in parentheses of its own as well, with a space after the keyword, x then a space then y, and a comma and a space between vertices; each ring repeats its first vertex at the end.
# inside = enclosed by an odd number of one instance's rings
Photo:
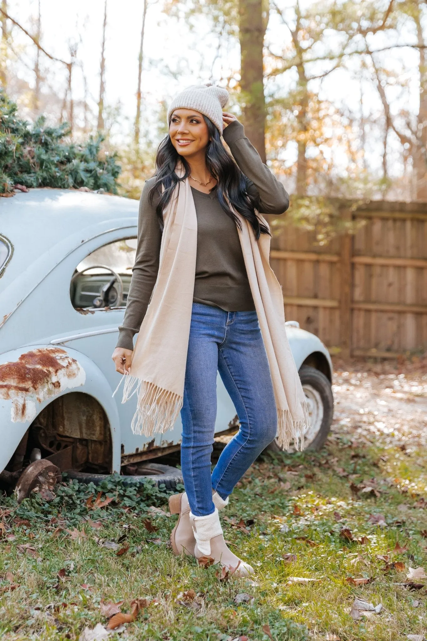
POLYGON ((427 201, 427 65, 424 46, 421 15, 414 16, 417 25, 419 48, 419 113, 417 128, 417 145, 414 145, 415 198, 427 201))

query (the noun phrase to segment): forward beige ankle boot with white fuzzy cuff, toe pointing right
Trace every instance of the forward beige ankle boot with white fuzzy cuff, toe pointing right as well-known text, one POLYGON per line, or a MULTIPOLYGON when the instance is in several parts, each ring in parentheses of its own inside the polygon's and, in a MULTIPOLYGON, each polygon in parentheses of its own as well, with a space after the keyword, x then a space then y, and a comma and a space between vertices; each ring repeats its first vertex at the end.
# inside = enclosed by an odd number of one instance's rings
POLYGON ((202 556, 213 558, 214 563, 220 563, 234 576, 254 574, 252 566, 239 559, 225 544, 217 508, 205 517, 195 517, 190 512, 189 520, 196 539, 194 555, 197 559, 202 556))

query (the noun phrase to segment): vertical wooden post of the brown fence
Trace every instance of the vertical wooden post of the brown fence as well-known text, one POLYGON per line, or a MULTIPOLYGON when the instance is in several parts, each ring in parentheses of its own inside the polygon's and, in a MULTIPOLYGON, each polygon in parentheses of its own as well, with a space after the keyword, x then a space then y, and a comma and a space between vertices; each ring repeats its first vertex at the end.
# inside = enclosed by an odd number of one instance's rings
MULTIPOLYGON (((351 220, 349 210, 342 211, 342 218, 351 220)), ((341 237, 340 256, 340 296, 339 296, 339 324, 340 324, 340 347, 342 358, 349 358, 351 355, 351 303, 353 301, 353 273, 351 269, 351 258, 353 256, 353 235, 346 233, 341 237)))

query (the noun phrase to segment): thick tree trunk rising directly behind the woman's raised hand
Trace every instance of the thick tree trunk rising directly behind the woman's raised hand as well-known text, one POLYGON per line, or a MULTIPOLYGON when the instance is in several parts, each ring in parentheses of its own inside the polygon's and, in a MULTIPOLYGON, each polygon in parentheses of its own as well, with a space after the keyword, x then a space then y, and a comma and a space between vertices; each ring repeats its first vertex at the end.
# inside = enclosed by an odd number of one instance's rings
POLYGON ((266 162, 262 0, 239 0, 242 115, 246 136, 266 162))

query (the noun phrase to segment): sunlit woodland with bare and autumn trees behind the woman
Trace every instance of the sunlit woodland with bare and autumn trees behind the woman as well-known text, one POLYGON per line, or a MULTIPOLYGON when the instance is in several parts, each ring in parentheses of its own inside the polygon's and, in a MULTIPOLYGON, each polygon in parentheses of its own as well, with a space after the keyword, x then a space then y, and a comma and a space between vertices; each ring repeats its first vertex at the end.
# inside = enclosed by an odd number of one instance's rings
MULTIPOLYGON (((103 153, 118 154, 122 194, 139 197, 166 133, 168 99, 189 76, 229 88, 246 134, 302 199, 294 217, 307 217, 306 196, 318 197, 320 209, 325 197, 427 201, 427 3, 93 0, 90 8, 80 6, 63 6, 73 28, 58 29, 52 40, 49 0, 1 0, 0 83, 25 119, 44 114, 46 126, 68 122, 71 142, 101 132, 103 153), (117 15, 129 9, 127 20, 138 21, 140 37, 122 56, 134 69, 125 115, 114 91, 120 74, 109 67, 118 53, 117 15), (92 24, 99 22, 95 33, 87 28, 88 13, 92 24), (150 42, 162 24, 166 39, 171 29, 179 34, 173 56, 166 41, 150 42), (88 40, 97 51, 96 74, 88 40), (157 87, 156 78, 163 84, 157 87)), ((310 215, 318 215, 310 203, 310 215)))

